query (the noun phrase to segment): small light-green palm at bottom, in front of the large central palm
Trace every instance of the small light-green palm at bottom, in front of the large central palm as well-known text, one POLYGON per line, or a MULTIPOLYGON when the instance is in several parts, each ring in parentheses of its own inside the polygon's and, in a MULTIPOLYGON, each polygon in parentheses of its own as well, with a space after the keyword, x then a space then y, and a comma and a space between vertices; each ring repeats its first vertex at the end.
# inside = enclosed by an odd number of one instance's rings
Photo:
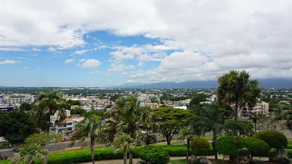
MULTIPOLYGON (((129 151, 133 151, 133 149, 136 147, 135 144, 133 144, 133 141, 134 139, 132 139, 130 135, 123 132, 116 135, 113 140, 113 146, 116 148, 114 150, 114 153, 117 153, 121 148, 124 148, 124 157, 123 157, 124 164, 127 164, 127 147, 129 148, 129 151)), ((130 160, 130 157, 129 157, 129 160, 130 160)))

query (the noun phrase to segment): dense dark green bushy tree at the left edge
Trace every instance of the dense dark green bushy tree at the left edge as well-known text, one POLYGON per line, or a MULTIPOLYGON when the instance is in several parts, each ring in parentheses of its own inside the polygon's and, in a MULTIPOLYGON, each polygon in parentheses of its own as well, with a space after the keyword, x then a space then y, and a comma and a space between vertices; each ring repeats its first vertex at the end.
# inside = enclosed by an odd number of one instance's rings
POLYGON ((13 143, 23 142, 36 128, 30 113, 23 110, 0 111, 0 136, 13 143))

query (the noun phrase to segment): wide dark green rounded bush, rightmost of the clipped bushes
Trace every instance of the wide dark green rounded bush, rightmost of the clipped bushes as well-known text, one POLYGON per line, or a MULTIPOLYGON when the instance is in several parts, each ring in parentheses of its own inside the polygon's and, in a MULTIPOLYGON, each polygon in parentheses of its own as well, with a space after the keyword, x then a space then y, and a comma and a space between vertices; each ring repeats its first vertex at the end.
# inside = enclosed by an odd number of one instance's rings
POLYGON ((256 138, 266 142, 271 148, 282 148, 288 145, 287 137, 276 130, 260 131, 256 138))

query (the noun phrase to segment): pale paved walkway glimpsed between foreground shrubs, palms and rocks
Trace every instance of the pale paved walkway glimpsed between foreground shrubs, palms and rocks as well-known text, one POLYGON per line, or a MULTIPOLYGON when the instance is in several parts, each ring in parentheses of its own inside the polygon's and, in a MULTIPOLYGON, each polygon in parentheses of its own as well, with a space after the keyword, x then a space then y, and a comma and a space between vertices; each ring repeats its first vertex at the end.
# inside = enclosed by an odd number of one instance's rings
MULTIPOLYGON (((215 156, 205 156, 208 159, 215 159, 215 156)), ((170 160, 181 160, 181 159, 185 159, 185 157, 170 157, 170 160)), ((218 159, 223 159, 223 156, 218 155, 218 159)), ((254 160, 258 160, 258 157, 254 157, 254 160)), ((138 158, 134 158, 133 159, 133 164, 135 164, 139 159, 138 158)), ((228 158, 225 160, 229 160, 228 158)), ((260 158, 261 161, 269 161, 268 157, 261 157, 260 158)), ((92 164, 92 162, 88 162, 88 163, 81 163, 81 164, 92 164)), ((95 164, 124 164, 123 159, 120 160, 102 160, 102 161, 95 161, 95 164)))

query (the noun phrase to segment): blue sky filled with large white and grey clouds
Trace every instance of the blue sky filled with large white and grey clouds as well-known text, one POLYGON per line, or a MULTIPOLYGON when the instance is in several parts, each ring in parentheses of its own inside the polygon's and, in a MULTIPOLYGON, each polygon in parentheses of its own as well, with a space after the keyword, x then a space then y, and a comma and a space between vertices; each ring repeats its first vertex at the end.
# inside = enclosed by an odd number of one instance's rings
POLYGON ((291 0, 2 0, 0 86, 292 77, 291 0))

